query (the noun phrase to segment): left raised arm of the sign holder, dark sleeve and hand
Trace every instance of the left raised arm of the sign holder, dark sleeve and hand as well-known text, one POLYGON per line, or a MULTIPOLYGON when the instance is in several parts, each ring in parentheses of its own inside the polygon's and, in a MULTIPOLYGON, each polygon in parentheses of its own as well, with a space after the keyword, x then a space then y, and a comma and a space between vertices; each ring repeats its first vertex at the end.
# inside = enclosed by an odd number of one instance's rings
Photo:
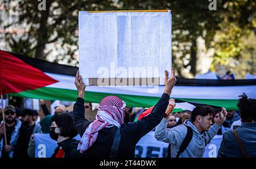
POLYGON ((85 129, 88 127, 90 122, 85 119, 84 116, 84 91, 85 84, 82 82, 82 77, 79 75, 79 71, 76 73, 75 84, 78 91, 76 103, 73 107, 73 121, 77 132, 82 137, 85 129))

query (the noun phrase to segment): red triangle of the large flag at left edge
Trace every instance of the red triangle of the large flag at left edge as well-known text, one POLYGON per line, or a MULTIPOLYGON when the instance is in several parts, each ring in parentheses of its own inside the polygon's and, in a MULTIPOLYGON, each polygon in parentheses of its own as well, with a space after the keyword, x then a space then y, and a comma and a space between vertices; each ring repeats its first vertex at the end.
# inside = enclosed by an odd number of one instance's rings
POLYGON ((1 94, 9 94, 34 90, 59 81, 10 53, 0 50, 0 82, 1 94))

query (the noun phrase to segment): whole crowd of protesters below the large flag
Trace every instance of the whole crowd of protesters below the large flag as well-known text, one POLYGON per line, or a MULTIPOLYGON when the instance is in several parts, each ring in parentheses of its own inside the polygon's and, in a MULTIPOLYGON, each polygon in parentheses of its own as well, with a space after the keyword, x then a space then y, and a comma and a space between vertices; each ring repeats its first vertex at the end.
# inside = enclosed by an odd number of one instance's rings
POLYGON ((174 70, 170 77, 166 71, 165 90, 158 103, 149 115, 134 122, 145 109, 126 107, 117 96, 107 96, 92 111, 92 104, 85 103, 86 86, 77 72, 78 96, 72 112, 59 105, 52 116, 41 101, 44 117, 39 120, 34 110, 5 107, 5 119, 0 125, 0 157, 34 157, 34 134, 49 133, 57 142, 52 158, 132 158, 135 145, 151 130, 155 130, 156 140, 169 144, 166 157, 203 157, 205 147, 216 134, 223 135, 218 157, 256 157, 255 99, 242 94, 238 112, 201 105, 192 112, 170 113, 170 108, 175 107, 175 100, 170 99, 175 83, 174 70), (77 134, 80 141, 73 138, 77 134))

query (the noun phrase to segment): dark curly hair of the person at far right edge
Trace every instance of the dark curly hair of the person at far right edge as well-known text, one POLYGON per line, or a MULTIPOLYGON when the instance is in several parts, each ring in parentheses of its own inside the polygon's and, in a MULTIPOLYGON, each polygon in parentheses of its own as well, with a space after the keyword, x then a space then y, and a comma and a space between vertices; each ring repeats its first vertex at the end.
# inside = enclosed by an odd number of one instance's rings
POLYGON ((240 110, 242 122, 256 121, 256 99, 248 99, 245 93, 239 97, 237 107, 240 110))

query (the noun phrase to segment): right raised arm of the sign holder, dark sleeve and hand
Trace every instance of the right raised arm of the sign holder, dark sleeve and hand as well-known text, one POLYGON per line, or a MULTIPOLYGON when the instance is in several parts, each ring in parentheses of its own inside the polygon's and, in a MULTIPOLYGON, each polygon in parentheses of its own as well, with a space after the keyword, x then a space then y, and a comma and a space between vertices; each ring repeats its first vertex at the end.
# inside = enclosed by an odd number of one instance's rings
POLYGON ((156 103, 155 107, 152 109, 150 115, 143 117, 138 122, 131 122, 127 124, 131 130, 133 130, 134 137, 137 137, 137 141, 145 134, 150 132, 152 129, 155 128, 156 125, 163 119, 164 114, 166 113, 166 108, 168 106, 168 100, 170 98, 170 94, 172 88, 176 83, 174 69, 172 69, 172 75, 168 78, 168 71, 166 70, 166 79, 165 79, 165 89, 162 97, 156 103))

